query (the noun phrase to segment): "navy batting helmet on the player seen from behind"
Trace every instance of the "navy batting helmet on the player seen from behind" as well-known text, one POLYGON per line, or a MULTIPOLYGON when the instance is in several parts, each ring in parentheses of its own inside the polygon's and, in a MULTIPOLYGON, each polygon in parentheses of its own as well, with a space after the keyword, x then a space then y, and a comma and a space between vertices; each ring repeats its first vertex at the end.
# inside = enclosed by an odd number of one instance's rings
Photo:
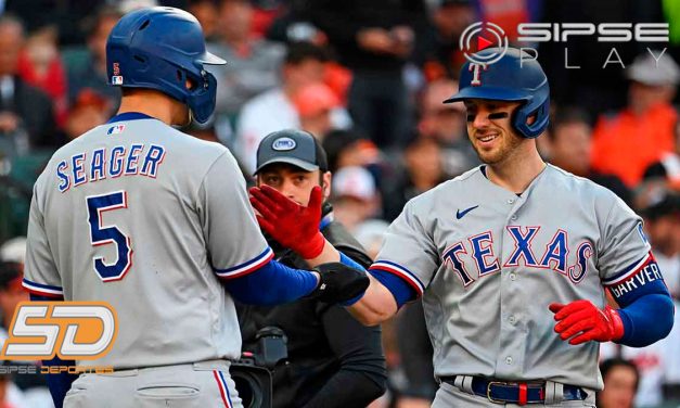
POLYGON ((204 124, 215 111, 217 80, 204 64, 227 62, 205 49, 196 17, 174 8, 149 8, 128 13, 106 42, 111 85, 150 88, 185 103, 204 124), (187 89, 187 80, 193 85, 187 89))

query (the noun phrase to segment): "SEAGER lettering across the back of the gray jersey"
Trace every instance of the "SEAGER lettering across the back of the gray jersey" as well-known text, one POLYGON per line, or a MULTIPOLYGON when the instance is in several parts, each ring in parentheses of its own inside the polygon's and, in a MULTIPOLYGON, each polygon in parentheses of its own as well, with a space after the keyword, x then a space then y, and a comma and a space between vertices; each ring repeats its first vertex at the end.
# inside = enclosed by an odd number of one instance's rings
POLYGON ((56 165, 59 191, 86 182, 104 180, 108 177, 146 176, 156 178, 165 157, 165 148, 158 144, 116 145, 111 150, 97 149, 93 152, 74 154, 56 165))

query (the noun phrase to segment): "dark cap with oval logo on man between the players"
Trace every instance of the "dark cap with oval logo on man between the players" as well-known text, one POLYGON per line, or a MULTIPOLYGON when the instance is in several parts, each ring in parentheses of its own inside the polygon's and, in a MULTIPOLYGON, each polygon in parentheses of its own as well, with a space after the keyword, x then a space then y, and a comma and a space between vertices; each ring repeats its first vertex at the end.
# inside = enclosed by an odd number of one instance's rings
POLYGON ((321 144, 310 132, 285 129, 269 133, 257 148, 255 175, 273 163, 287 163, 306 171, 328 171, 329 163, 321 144))

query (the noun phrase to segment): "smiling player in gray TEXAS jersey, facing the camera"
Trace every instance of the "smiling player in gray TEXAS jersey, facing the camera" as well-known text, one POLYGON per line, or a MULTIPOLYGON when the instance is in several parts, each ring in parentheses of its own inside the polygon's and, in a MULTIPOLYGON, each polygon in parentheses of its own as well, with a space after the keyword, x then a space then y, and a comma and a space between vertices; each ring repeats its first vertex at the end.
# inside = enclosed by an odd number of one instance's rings
POLYGON ((645 346, 672 327, 642 220, 539 156, 550 101, 538 62, 509 49, 460 77, 445 102, 465 103, 484 164, 405 206, 349 309, 375 324, 423 296, 440 382, 433 407, 594 407, 599 342, 645 346))

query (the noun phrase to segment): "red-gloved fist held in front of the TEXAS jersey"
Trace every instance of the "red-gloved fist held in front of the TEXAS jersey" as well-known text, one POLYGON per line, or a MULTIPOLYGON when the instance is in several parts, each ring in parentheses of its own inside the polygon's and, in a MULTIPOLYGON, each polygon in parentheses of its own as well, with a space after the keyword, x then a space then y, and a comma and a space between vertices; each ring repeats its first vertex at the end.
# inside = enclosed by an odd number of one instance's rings
POLYGON ((594 340, 610 342, 624 336, 624 322, 616 309, 608 305, 600 310, 590 301, 575 301, 568 305, 553 303, 549 306, 555 314, 555 332, 562 340, 577 345, 594 340))

